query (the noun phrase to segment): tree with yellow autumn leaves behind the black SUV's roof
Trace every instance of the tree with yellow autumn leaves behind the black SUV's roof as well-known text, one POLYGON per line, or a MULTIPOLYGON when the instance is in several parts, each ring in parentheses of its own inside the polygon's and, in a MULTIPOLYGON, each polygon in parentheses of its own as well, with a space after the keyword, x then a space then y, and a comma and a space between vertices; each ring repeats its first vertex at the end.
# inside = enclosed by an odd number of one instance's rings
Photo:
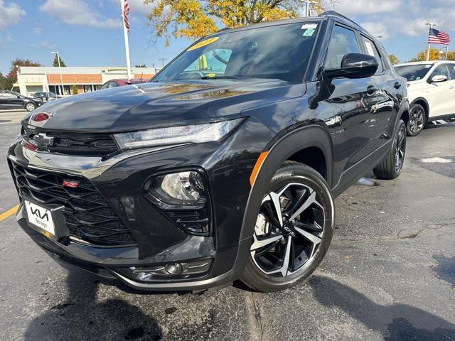
MULTIPOLYGON (((300 0, 144 0, 153 4, 149 25, 153 39, 200 38, 223 27, 241 27, 262 21, 295 18, 304 9, 300 0)), ((311 13, 323 11, 323 1, 311 7, 311 13)))

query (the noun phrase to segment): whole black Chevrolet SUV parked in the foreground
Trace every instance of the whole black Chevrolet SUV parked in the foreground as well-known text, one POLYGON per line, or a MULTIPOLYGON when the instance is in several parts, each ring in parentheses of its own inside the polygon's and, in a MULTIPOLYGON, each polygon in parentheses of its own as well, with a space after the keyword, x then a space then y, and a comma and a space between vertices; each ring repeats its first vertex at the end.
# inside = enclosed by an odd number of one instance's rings
POLYGON ((338 13, 223 30, 151 82, 28 115, 8 154, 17 220, 135 288, 276 291, 323 259, 334 196, 400 174, 408 116, 385 50, 338 13))

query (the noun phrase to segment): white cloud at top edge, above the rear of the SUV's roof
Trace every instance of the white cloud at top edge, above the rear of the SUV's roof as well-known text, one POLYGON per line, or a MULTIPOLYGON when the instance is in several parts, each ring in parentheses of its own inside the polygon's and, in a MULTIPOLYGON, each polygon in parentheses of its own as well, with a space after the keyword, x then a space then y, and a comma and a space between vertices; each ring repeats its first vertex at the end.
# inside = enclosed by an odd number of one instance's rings
POLYGON ((372 0, 341 0, 335 4, 334 8, 340 13, 353 16, 397 11, 401 4, 400 0, 382 0, 380 3, 372 0))

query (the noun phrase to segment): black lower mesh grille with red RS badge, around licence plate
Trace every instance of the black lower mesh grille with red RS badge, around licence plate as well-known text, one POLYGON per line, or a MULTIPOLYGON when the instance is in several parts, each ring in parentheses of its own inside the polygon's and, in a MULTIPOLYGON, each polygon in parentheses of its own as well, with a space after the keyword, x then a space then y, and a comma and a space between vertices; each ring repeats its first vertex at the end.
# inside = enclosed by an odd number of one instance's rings
POLYGON ((65 207, 63 214, 72 236, 98 245, 136 243, 129 229, 89 180, 24 168, 16 163, 13 163, 13 169, 21 197, 65 207), (76 181, 77 188, 63 187, 64 180, 76 181))

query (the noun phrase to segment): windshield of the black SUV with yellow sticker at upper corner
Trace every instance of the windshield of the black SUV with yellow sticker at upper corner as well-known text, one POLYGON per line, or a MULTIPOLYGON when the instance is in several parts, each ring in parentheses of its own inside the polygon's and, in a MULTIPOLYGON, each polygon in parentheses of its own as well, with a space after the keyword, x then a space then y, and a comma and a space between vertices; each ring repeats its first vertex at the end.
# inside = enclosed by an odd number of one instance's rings
POLYGON ((153 82, 237 77, 301 82, 317 23, 292 23, 220 33, 200 40, 153 82))

